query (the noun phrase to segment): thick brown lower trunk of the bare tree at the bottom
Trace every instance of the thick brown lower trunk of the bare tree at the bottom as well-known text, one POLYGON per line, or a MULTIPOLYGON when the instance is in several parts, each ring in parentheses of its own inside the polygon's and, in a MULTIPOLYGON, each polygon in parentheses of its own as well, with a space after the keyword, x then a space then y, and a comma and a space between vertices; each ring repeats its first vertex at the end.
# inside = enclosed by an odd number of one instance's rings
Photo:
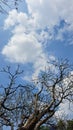
POLYGON ((26 121, 24 126, 19 128, 18 130, 39 130, 40 126, 43 123, 45 123, 49 118, 51 118, 53 116, 53 114, 54 114, 54 111, 50 112, 49 116, 47 116, 46 118, 40 120, 43 117, 43 115, 45 115, 47 113, 47 109, 45 109, 41 113, 37 113, 37 114, 34 113, 34 114, 32 114, 28 118, 28 120, 26 121))

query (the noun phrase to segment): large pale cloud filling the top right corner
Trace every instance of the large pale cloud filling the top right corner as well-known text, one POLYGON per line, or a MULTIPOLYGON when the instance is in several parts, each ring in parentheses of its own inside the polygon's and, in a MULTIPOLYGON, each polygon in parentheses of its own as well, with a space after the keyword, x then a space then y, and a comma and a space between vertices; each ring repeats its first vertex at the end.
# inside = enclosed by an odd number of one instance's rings
POLYGON ((40 27, 58 25, 61 19, 73 24, 73 0, 26 0, 29 13, 40 27))

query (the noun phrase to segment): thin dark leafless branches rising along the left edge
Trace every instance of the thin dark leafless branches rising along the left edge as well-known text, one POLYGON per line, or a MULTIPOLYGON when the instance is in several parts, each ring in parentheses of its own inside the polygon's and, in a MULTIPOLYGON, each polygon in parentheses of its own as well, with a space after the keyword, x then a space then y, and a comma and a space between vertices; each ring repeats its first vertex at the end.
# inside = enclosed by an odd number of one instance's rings
POLYGON ((16 85, 16 80, 22 72, 19 66, 14 73, 11 72, 10 66, 1 70, 1 73, 5 73, 8 76, 8 82, 5 86, 0 85, 0 124, 11 126, 11 130, 14 129, 16 110, 18 111, 22 107, 16 101, 17 99, 15 100, 16 97, 19 98, 17 93, 20 88, 20 85, 16 85))

